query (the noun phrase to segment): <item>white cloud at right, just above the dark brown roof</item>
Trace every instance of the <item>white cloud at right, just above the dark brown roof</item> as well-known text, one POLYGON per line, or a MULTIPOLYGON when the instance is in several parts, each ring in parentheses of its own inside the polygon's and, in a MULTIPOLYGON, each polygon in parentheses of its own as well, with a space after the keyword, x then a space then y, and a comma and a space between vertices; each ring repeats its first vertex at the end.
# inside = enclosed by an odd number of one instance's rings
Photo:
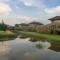
POLYGON ((45 9, 45 12, 48 14, 48 15, 59 15, 60 14, 60 6, 56 6, 54 8, 46 8, 45 9))

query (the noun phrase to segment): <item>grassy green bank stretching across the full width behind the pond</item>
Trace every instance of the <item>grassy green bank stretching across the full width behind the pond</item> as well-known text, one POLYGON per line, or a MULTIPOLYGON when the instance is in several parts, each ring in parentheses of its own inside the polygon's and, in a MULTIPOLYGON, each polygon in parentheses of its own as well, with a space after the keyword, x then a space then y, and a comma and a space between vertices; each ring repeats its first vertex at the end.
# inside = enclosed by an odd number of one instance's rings
POLYGON ((24 31, 17 31, 17 32, 11 32, 11 31, 0 31, 0 40, 2 39, 8 39, 9 38, 27 38, 31 37, 32 41, 51 41, 51 42, 60 42, 60 35, 52 35, 52 34, 42 34, 37 32, 24 32, 24 31), (33 39, 34 38, 34 39, 33 39))

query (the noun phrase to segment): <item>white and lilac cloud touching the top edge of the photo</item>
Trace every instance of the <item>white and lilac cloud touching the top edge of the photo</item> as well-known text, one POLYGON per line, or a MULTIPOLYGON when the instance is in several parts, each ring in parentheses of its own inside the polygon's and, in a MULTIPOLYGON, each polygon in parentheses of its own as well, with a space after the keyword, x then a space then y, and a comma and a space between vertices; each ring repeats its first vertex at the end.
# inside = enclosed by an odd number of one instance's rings
POLYGON ((25 6, 34 6, 37 8, 45 8, 43 0, 21 0, 25 6))

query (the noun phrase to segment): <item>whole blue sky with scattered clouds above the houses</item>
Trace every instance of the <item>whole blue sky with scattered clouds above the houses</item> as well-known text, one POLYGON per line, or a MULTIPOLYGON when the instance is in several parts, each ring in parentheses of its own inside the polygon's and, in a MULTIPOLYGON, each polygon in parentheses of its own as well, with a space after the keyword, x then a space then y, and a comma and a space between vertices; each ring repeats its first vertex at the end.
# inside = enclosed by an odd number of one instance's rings
POLYGON ((0 0, 0 22, 14 25, 38 21, 49 24, 60 16, 60 0, 0 0))

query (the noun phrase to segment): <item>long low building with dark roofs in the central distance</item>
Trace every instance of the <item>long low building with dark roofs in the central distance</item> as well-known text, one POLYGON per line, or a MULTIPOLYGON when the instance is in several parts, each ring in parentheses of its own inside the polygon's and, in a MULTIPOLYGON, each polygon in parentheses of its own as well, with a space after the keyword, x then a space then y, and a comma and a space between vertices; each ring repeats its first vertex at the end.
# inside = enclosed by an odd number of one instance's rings
POLYGON ((36 31, 36 28, 41 25, 43 25, 43 24, 40 22, 31 22, 28 24, 21 23, 21 24, 16 24, 15 28, 17 30, 23 30, 23 31, 36 31))

